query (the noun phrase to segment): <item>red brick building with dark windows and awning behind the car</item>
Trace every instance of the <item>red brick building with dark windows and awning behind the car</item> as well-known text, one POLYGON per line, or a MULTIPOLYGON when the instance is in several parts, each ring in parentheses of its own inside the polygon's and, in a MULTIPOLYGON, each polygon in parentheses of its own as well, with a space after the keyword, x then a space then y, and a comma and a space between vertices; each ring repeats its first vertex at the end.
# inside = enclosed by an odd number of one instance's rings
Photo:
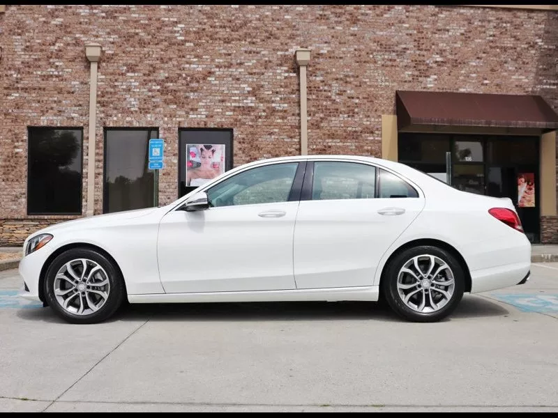
POLYGON ((169 203, 208 143, 224 169, 346 153, 443 177, 451 152, 452 185, 511 197, 533 242, 558 242, 556 10, 0 6, 0 245, 169 203))

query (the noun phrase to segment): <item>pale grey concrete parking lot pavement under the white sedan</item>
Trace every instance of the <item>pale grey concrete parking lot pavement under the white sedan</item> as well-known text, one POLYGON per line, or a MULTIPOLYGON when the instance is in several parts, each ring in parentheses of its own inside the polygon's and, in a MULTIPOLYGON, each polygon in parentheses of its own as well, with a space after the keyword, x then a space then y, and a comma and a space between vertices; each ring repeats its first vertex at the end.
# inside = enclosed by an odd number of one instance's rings
POLYGON ((448 320, 379 304, 129 305, 69 325, 0 272, 0 411, 558 411, 558 263, 448 320))

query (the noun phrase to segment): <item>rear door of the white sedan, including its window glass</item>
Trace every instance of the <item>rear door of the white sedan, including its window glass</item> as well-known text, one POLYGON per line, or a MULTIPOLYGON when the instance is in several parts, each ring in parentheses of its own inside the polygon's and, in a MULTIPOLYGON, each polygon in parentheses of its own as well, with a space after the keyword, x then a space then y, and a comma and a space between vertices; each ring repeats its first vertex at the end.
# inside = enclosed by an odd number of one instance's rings
POLYGON ((372 286, 380 258, 424 203, 405 180, 370 164, 308 162, 294 229, 296 288, 372 286))

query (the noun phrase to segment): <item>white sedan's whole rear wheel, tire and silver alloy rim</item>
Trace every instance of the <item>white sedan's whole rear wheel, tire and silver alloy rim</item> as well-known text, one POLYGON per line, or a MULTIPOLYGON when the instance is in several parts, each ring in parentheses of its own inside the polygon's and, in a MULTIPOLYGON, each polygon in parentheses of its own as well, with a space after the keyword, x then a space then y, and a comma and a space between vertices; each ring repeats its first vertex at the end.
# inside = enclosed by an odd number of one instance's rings
POLYGON ((446 318, 458 306, 465 272, 448 251, 420 246, 402 251, 390 262, 382 291, 395 313, 415 322, 446 318))

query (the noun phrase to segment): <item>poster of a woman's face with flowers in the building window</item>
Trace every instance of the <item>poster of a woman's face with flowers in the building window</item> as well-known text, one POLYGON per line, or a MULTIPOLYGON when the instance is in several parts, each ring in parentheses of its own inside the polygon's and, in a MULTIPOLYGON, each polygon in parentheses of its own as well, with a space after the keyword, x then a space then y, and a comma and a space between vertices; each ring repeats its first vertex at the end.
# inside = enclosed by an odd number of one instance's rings
POLYGON ((224 144, 186 144, 187 187, 199 187, 223 173, 224 144))

